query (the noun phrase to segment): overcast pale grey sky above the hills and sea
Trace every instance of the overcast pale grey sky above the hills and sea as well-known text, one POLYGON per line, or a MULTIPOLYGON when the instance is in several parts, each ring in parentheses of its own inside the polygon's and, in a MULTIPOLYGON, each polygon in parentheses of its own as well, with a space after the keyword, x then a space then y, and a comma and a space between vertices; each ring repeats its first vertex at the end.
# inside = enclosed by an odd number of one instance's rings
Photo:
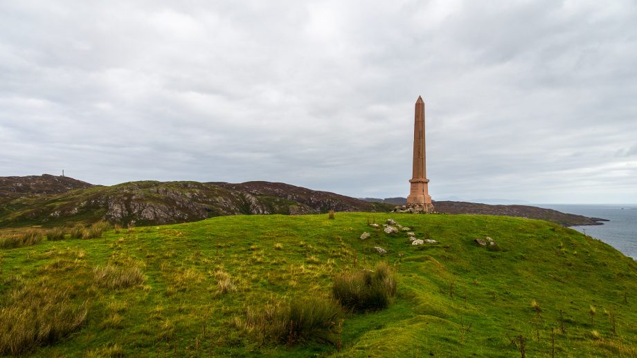
POLYGON ((0 176, 637 202, 636 1, 1 1, 0 176), (178 4, 179 3, 179 4, 178 4))

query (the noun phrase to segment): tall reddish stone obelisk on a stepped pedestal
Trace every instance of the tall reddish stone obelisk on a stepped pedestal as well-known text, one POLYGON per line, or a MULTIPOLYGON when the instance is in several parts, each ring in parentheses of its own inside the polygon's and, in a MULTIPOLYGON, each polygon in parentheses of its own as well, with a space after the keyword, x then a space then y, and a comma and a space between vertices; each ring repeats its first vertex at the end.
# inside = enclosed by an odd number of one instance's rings
POLYGON ((431 212, 431 196, 427 189, 427 168, 424 156, 424 101, 418 96, 415 109, 415 120, 413 124, 413 174, 411 180, 411 190, 407 197, 407 207, 414 212, 431 212))

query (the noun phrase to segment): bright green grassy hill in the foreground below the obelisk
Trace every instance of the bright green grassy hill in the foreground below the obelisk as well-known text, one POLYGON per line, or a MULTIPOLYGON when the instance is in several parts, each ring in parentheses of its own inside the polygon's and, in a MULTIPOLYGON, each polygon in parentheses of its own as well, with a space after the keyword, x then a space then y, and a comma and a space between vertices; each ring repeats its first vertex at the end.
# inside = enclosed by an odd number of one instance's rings
POLYGON ((524 218, 224 216, 0 249, 0 310, 81 322, 37 342, 42 357, 516 357, 521 340, 530 357, 634 357, 636 270, 609 245, 524 218), (388 218, 438 243, 368 226, 388 218), (487 236, 497 245, 474 242, 487 236), (395 301, 346 314, 340 345, 241 328, 248 310, 329 297, 335 275, 379 261, 397 271, 395 301))

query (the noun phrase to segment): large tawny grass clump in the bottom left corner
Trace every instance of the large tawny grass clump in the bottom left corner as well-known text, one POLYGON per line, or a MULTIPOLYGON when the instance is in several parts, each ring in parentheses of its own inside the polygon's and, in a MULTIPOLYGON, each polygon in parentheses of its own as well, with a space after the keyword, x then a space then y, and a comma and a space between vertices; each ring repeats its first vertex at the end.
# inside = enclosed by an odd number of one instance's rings
POLYGON ((60 341, 87 318, 87 303, 73 303, 62 290, 26 285, 8 302, 0 307, 0 355, 21 355, 60 341))

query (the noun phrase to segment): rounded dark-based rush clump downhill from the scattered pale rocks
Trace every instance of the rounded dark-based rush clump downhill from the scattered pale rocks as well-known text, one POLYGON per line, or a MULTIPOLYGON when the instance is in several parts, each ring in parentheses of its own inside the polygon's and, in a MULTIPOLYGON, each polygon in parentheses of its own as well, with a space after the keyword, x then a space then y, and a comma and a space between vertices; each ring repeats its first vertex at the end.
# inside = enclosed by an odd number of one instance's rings
POLYGON ((343 307, 355 312, 383 310, 396 295, 396 274, 387 263, 334 278, 332 294, 343 307))

